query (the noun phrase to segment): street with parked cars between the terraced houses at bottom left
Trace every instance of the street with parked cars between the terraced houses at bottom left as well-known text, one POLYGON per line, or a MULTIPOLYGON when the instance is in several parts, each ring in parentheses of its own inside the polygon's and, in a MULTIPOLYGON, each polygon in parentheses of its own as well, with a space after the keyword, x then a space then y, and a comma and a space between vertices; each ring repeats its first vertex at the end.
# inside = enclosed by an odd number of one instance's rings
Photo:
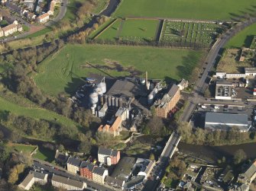
POLYGON ((70 177, 70 179, 73 179, 73 180, 83 181, 87 184, 87 189, 91 189, 91 190, 97 189, 97 190, 101 190, 101 191, 115 191, 115 189, 112 189, 110 186, 95 183, 95 182, 88 180, 84 177, 80 177, 79 175, 70 173, 61 167, 57 167, 55 165, 49 164, 45 161, 39 161, 39 160, 35 159, 33 165, 34 165, 35 169, 44 169, 45 171, 47 171, 49 173, 54 173, 54 174, 60 175, 62 177, 70 177), (54 169, 54 167, 55 167, 55 169, 54 169))

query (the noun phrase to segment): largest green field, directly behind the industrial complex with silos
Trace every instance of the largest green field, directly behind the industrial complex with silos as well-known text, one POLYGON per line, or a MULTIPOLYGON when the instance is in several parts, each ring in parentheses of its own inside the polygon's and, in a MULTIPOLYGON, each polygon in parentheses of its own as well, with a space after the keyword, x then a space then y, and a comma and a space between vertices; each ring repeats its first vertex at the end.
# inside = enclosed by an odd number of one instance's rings
POLYGON ((72 94, 84 83, 80 78, 89 73, 125 76, 135 71, 142 76, 147 70, 149 78, 187 79, 202 56, 203 52, 190 49, 69 44, 41 63, 34 80, 47 94, 56 95, 60 92, 72 94), (88 67, 86 62, 96 68, 88 67), (111 68, 113 62, 122 70, 111 68))

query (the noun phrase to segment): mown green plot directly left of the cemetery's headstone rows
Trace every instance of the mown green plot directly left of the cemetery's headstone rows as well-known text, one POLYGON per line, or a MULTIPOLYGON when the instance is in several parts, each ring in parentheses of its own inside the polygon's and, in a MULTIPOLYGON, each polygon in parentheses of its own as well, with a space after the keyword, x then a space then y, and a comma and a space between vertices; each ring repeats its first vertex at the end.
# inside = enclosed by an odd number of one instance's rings
POLYGON ((157 20, 121 20, 115 21, 105 30, 99 39, 103 40, 129 40, 141 42, 155 40, 159 21, 157 20))

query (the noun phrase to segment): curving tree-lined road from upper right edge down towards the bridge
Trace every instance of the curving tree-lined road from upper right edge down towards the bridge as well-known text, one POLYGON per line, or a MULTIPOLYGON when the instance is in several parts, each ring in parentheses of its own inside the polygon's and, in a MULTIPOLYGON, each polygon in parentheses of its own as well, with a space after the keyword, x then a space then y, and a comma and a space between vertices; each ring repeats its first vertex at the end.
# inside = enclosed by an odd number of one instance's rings
POLYGON ((184 109, 183 115, 180 117, 180 121, 189 121, 193 113, 193 110, 195 110, 196 108, 197 103, 199 103, 199 100, 202 100, 204 91, 206 90, 208 85, 206 83, 206 78, 209 77, 209 72, 211 72, 212 67, 215 64, 215 59, 219 55, 219 50, 222 49, 225 46, 225 43, 227 43, 228 40, 235 36, 236 33, 245 29, 245 27, 254 24, 255 22, 256 18, 251 18, 249 21, 239 23, 237 26, 224 33, 222 35, 222 38, 217 40, 214 46, 212 46, 212 49, 210 50, 208 56, 206 57, 206 63, 208 63, 206 65, 206 69, 203 72, 202 77, 196 81, 192 97, 189 98, 189 103, 184 109))

